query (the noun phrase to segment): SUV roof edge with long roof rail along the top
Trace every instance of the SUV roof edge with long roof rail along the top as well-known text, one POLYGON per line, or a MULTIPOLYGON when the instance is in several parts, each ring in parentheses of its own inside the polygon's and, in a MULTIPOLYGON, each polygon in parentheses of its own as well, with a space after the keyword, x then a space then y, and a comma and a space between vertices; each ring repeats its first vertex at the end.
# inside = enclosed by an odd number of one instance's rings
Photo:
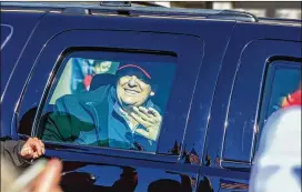
POLYGON ((89 2, 1 2, 3 9, 23 9, 49 11, 57 13, 77 13, 77 14, 123 14, 123 16, 149 16, 163 18, 189 18, 189 19, 213 19, 232 20, 242 22, 259 22, 263 24, 282 24, 301 27, 302 20, 278 19, 278 18, 258 18, 250 12, 233 10, 213 10, 213 9, 188 9, 188 8, 165 8, 158 7, 154 3, 139 3, 139 1, 108 1, 99 4, 89 2), (147 6, 141 6, 147 4, 147 6), (150 6, 151 4, 151 6, 150 6))

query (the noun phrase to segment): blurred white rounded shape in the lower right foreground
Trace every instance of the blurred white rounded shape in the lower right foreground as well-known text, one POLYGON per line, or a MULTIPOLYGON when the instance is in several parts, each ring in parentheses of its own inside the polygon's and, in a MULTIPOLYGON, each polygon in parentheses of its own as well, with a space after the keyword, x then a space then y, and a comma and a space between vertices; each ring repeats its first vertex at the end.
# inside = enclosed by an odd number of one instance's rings
POLYGON ((273 113, 263 128, 250 192, 301 192, 301 107, 273 113))

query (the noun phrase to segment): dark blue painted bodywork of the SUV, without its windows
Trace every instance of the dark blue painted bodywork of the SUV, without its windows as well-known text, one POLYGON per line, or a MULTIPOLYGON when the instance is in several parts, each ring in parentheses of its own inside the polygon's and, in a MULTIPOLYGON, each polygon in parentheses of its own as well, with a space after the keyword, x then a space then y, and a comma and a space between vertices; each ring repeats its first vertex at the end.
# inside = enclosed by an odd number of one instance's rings
POLYGON ((39 137, 67 50, 178 55, 155 154, 46 141, 66 191, 248 191, 268 68, 301 68, 301 23, 249 13, 1 3, 1 137, 39 137), (181 99, 179 99, 181 98, 181 99))

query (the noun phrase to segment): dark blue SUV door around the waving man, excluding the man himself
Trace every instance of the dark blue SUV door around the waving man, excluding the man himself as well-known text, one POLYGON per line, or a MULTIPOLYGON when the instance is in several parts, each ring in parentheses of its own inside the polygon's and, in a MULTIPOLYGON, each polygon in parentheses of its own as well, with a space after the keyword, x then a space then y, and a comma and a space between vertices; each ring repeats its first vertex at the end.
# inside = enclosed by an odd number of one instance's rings
MULTIPOLYGON (((114 77, 120 64, 135 64, 151 73, 152 81, 154 79, 154 87, 151 85, 154 88, 153 103, 162 117, 155 150, 133 151, 44 140, 46 156, 62 159, 66 191, 193 191, 197 182, 191 181, 198 178, 200 161, 180 165, 184 161, 180 149, 185 128, 191 130, 187 121, 202 58, 201 39, 150 32, 147 24, 135 19, 49 14, 20 60, 33 62, 34 67, 17 104, 12 135, 41 138, 48 117, 59 108, 58 100, 64 95, 93 93, 100 87, 112 84, 108 77, 114 77), (125 22, 133 29, 123 26, 125 22), (52 23, 56 24, 50 29, 52 23), (143 27, 149 32, 141 31, 143 27), (101 73, 105 75, 94 83, 94 78, 101 73)), ((17 69, 13 78, 18 78, 18 72, 22 70, 17 69)), ((98 102, 98 98, 94 100, 98 102)), ((97 114, 93 110, 92 113, 97 114)), ((194 151, 188 154, 194 158, 194 151)))

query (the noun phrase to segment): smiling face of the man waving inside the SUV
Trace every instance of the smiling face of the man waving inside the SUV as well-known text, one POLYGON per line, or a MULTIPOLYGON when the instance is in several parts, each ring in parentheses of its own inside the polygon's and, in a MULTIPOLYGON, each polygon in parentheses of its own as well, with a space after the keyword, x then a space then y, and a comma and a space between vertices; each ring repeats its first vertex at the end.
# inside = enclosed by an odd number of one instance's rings
POLYGON ((140 107, 151 94, 151 85, 135 75, 124 75, 118 81, 117 94, 122 104, 140 107))

